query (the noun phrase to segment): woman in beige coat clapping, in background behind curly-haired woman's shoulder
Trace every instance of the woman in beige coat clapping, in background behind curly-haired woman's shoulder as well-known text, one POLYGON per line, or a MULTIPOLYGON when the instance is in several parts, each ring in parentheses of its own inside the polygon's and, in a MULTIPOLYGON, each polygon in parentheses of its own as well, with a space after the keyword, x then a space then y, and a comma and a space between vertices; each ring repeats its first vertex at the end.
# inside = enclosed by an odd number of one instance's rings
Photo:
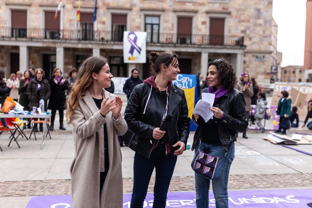
MULTIPOLYGON (((244 93, 245 102, 246 102, 246 118, 248 120, 249 111, 251 110, 251 97, 253 96, 253 87, 250 82, 250 76, 247 72, 242 72, 241 77, 239 78, 241 81, 237 82, 236 89, 244 93)), ((237 133, 236 133, 237 137, 237 133)), ((243 133, 243 138, 248 139, 246 131, 243 133)))

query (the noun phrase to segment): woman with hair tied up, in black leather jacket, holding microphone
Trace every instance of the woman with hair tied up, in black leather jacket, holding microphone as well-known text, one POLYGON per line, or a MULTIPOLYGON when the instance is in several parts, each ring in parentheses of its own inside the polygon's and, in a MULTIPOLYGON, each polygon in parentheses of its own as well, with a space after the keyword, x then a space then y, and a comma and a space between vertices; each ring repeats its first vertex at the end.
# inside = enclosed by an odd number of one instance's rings
POLYGON ((166 206, 167 192, 177 156, 185 150, 190 118, 183 89, 172 83, 180 72, 178 56, 150 53, 156 76, 134 87, 124 112, 128 129, 134 133, 129 147, 135 151, 134 184, 130 207, 143 207, 149 181, 156 168, 153 207, 166 206), (173 114, 164 131, 166 115, 173 114))

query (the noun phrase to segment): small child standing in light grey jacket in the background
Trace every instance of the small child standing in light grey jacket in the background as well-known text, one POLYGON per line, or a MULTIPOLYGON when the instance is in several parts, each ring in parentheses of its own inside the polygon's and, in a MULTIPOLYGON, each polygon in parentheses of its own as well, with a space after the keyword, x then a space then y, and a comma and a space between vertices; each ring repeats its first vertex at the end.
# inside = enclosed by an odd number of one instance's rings
POLYGON ((266 129, 261 124, 261 120, 265 119, 267 104, 268 102, 266 101, 266 94, 264 92, 259 93, 257 105, 256 105, 256 114, 255 114, 256 124, 259 127, 259 130, 257 131, 257 133, 263 133, 266 131, 266 129))

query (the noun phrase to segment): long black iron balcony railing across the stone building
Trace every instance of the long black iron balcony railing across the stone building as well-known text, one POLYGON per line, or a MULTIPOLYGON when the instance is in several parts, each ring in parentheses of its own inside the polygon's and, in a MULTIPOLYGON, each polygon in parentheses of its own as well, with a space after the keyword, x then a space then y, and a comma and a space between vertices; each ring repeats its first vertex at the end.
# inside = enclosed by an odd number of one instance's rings
MULTIPOLYGON (((122 42, 123 32, 0 27, 0 38, 15 38, 21 40, 54 39, 66 41, 122 42)), ((149 44, 244 46, 244 37, 222 35, 181 35, 174 33, 148 33, 146 42, 149 44), (151 36, 153 36, 152 42, 151 36)))

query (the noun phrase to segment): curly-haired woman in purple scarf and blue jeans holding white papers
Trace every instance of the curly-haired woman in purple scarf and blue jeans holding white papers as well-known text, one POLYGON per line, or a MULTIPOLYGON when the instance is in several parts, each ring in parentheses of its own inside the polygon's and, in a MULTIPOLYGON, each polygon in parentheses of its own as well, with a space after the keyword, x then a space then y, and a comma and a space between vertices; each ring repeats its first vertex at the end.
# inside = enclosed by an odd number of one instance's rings
MULTIPOLYGON (((227 60, 217 59, 209 62, 207 80, 209 87, 203 89, 202 93, 215 94, 213 107, 209 108, 213 117, 205 123, 200 115, 193 115, 193 121, 198 128, 194 135, 192 151, 201 150, 219 158, 212 179, 212 190, 216 207, 224 208, 228 207, 227 182, 234 159, 236 131, 245 132, 248 126, 246 103, 244 94, 234 89, 236 73, 227 60)), ((210 180, 195 172, 197 208, 209 206, 210 180)))

